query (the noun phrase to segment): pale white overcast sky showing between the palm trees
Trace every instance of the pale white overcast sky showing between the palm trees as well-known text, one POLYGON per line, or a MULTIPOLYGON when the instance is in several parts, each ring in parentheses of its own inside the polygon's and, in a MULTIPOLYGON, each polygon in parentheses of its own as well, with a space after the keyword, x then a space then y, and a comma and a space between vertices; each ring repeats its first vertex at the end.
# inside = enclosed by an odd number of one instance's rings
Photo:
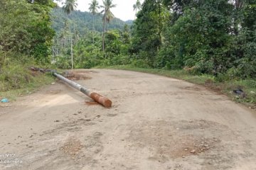
MULTIPOLYGON (((64 0, 63 0, 64 1, 64 0)), ((92 0, 78 0, 78 8, 80 11, 88 11, 89 5, 92 0)), ((98 0, 102 5, 102 0, 98 0)), ((112 8, 112 13, 116 18, 120 18, 123 21, 134 20, 135 11, 133 5, 137 0, 113 0, 113 4, 117 4, 117 7, 112 8)), ((143 2, 144 0, 141 0, 143 2)), ((100 11, 100 10, 99 10, 100 11)), ((102 11, 102 10, 101 10, 102 11)))

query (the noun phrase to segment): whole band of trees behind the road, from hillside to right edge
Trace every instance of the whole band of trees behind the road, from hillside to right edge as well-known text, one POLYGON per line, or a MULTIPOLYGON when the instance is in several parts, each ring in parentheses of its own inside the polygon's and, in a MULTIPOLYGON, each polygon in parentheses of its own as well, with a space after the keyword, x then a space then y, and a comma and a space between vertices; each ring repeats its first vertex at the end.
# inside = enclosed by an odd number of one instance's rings
MULTIPOLYGON (((255 0, 145 0, 141 5, 138 0, 134 4, 134 10, 138 10, 137 19, 131 27, 124 23, 114 27, 116 21, 108 25, 105 52, 100 45, 102 16, 95 18, 95 33, 92 31, 92 14, 75 11, 72 14, 74 32, 77 32, 72 35, 75 67, 134 64, 213 74, 220 80, 255 78, 255 4, 255 0)), ((58 27, 63 38, 68 35, 69 23, 60 9, 56 11, 62 13, 60 23, 63 25, 58 27)), ((58 41, 61 42, 60 38, 58 41)), ((61 43, 57 44, 57 49, 63 51, 57 52, 58 60, 66 61, 57 62, 58 65, 70 67, 67 61, 70 42, 62 41, 62 47, 61 43), (65 57, 61 57, 63 54, 65 57)))

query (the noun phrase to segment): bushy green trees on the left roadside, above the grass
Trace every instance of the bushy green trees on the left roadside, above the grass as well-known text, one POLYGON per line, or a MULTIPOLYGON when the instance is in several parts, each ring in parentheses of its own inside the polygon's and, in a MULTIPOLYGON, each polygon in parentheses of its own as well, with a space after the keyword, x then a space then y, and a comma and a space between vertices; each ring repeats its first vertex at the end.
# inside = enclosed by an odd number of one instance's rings
MULTIPOLYGON (((50 8, 53 1, 0 1, 0 53, 23 54, 38 62, 49 62, 54 31, 50 28, 50 8)), ((19 55, 16 56, 16 59, 19 55)))

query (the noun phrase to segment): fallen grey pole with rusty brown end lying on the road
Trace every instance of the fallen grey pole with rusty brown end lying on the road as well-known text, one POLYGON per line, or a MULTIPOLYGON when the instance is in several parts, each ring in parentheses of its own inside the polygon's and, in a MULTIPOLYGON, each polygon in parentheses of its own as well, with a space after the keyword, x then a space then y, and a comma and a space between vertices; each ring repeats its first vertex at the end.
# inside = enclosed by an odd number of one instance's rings
POLYGON ((75 83, 74 81, 71 81, 69 79, 66 79, 65 77, 61 76, 60 74, 53 73, 55 77, 58 77, 58 79, 65 81, 68 83, 70 86, 73 86, 75 89, 78 89, 81 91, 83 94, 86 94, 90 98, 92 98, 94 101, 97 101, 97 103, 102 104, 102 106, 105 106, 105 108, 110 108, 112 105, 112 101, 110 99, 105 98, 101 96, 100 94, 94 93, 90 91, 90 89, 87 89, 85 86, 81 86, 80 84, 75 83))

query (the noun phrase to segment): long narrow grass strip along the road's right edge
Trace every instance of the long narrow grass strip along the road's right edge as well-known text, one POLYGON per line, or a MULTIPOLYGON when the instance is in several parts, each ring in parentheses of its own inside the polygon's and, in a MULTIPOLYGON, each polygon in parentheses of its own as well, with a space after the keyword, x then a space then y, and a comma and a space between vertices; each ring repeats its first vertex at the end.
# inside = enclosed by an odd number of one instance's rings
POLYGON ((206 86, 208 89, 216 91, 218 93, 226 94, 233 101, 239 103, 245 103, 248 106, 256 105, 256 80, 253 79, 240 79, 240 80, 228 80, 219 82, 212 75, 201 74, 194 75, 190 74, 182 69, 180 70, 166 70, 166 69, 146 69, 146 68, 138 68, 133 67, 131 65, 117 65, 110 67, 96 67, 96 68, 104 68, 104 69, 124 69, 134 72, 144 72, 149 74, 158 74, 164 77, 172 77, 176 79, 183 79, 185 81, 191 82, 193 84, 199 84, 206 86), (233 90, 241 88, 245 91, 245 96, 237 96, 233 94, 233 90))

